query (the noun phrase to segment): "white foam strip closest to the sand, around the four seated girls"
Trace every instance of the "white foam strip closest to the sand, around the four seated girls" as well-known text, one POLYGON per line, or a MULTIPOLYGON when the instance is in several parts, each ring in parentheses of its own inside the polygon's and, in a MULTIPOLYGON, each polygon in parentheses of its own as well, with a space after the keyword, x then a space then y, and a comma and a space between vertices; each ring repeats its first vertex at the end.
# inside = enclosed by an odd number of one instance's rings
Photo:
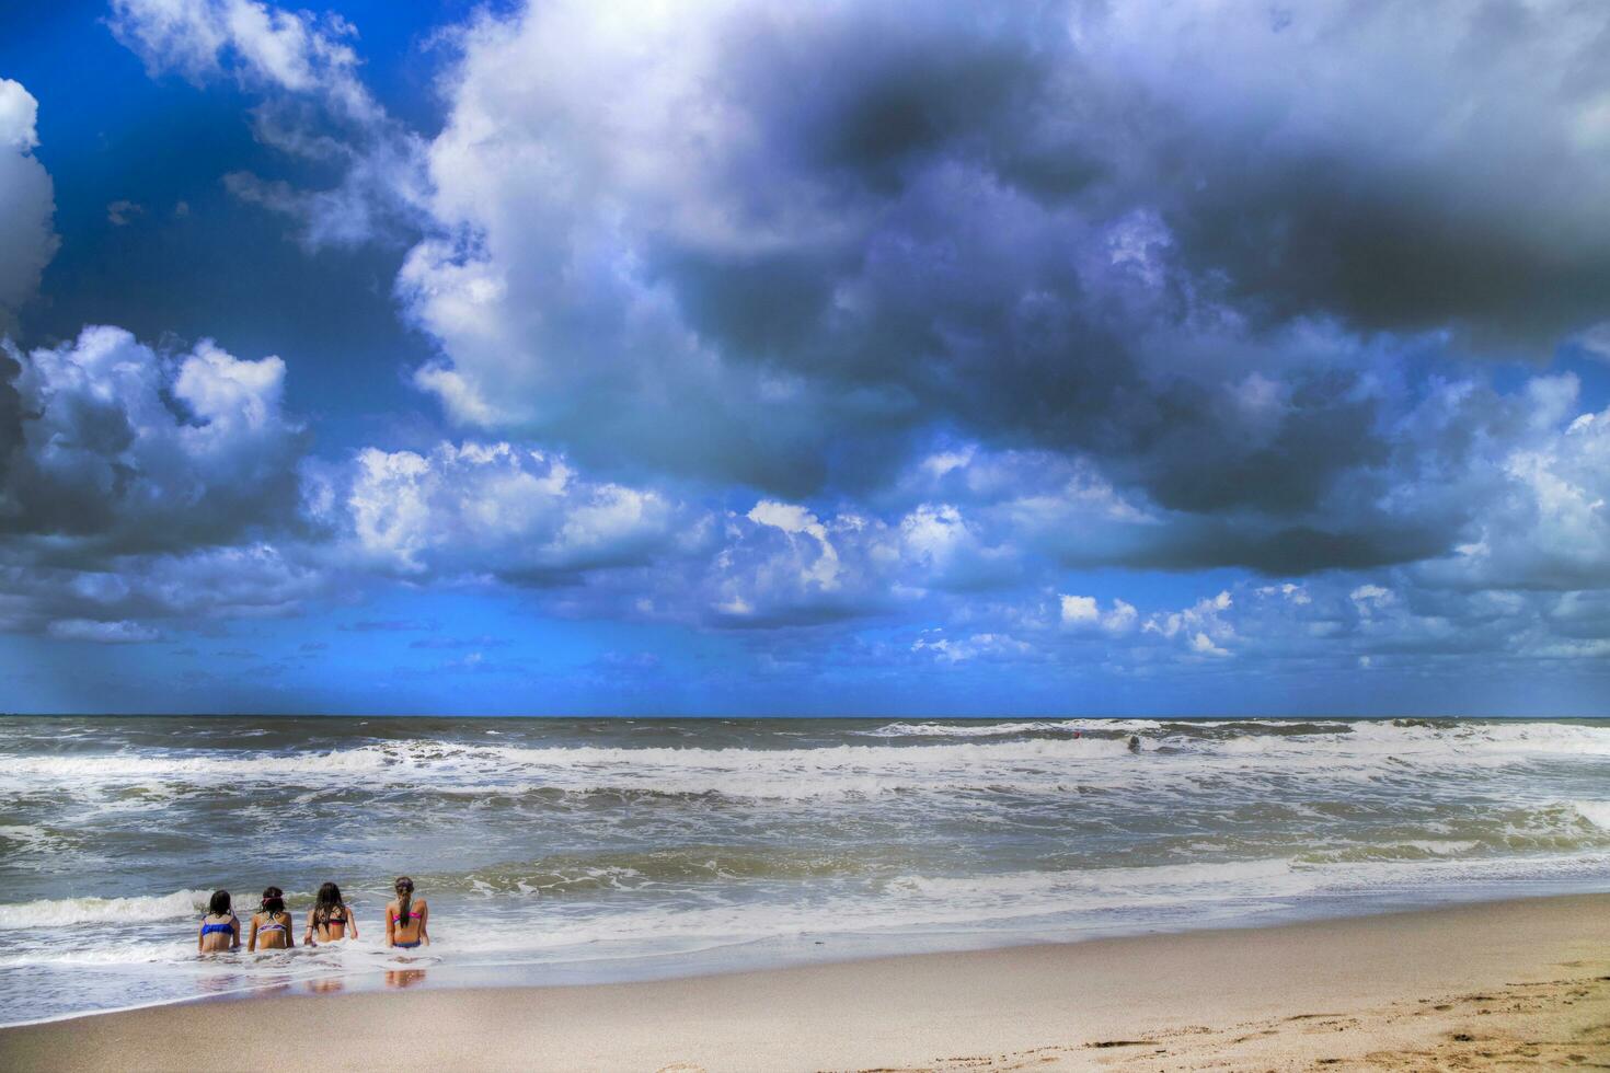
MULTIPOLYGON (((496 927, 454 928, 443 917, 431 954, 459 964, 584 962, 601 957, 686 952, 752 943, 765 938, 810 935, 876 935, 931 930, 984 930, 1032 927, 1043 935, 1069 938, 1124 927, 1151 927, 1190 909, 1225 914, 1259 904, 1278 907, 1304 896, 1362 898, 1383 888, 1415 891, 1428 878, 1447 890, 1505 880, 1592 880, 1610 869, 1610 854, 1584 853, 1558 857, 1494 857, 1483 861, 1302 864, 1293 859, 1191 862, 1177 865, 1111 867, 1088 870, 1030 870, 998 875, 902 875, 879 891, 831 894, 813 899, 707 904, 650 902, 639 906, 588 906, 555 911, 541 898, 489 904, 477 912, 496 927)), ((130 920, 137 902, 171 902, 169 915, 187 915, 200 891, 179 891, 163 899, 69 899, 72 922, 130 920), (98 902, 87 909, 85 904, 98 902), (113 914, 97 915, 97 914, 113 914)), ((39 923, 66 922, 53 914, 66 909, 29 909, 39 923)), ((188 938, 188 936, 187 936, 188 938)), ((383 967, 393 952, 377 936, 327 944, 317 951, 293 951, 270 959, 230 965, 230 972, 317 975, 330 970, 383 967)), ((190 941, 113 939, 93 948, 52 943, 0 954, 0 967, 18 965, 119 965, 171 962, 185 973, 216 970, 195 959, 190 941)))

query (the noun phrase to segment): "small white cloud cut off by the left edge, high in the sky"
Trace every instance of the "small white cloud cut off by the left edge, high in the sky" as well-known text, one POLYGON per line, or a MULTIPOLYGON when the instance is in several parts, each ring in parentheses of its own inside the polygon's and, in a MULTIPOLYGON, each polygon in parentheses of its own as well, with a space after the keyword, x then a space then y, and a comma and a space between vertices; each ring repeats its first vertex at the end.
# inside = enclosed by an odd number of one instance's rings
POLYGON ((60 243, 52 224, 56 203, 50 174, 34 158, 37 116, 34 95, 21 82, 0 79, 0 336, 14 328, 18 310, 34 296, 60 243))

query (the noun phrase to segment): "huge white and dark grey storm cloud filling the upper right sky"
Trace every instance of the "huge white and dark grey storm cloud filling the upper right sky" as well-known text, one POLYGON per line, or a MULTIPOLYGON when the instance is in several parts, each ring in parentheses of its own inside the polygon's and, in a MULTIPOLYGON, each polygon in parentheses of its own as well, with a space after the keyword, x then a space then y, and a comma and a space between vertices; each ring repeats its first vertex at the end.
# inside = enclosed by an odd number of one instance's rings
POLYGON ((419 383, 583 463, 791 497, 871 494, 935 426, 1085 455, 1182 518, 1137 565, 1443 552, 1462 518, 1360 492, 1414 405, 1365 383, 1372 335, 1538 351, 1610 314, 1610 14, 1504 11, 737 5, 630 50, 583 6, 481 23, 431 148, 473 240, 399 285, 443 346, 419 383))

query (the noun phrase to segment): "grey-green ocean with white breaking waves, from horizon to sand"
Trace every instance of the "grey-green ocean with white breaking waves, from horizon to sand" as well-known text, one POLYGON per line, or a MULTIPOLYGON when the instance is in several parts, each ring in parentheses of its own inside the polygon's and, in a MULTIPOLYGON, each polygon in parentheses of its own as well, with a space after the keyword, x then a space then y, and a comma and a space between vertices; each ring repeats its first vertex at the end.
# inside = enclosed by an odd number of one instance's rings
POLYGON ((0 719, 0 1023, 1605 890, 1602 721, 0 719), (325 880, 359 941, 196 956, 325 880))

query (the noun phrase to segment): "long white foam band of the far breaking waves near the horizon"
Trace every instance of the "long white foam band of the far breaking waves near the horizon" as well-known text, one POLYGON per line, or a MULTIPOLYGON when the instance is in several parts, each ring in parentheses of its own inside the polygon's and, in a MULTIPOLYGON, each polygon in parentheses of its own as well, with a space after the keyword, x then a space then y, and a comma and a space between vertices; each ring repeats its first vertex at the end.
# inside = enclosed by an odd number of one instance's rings
POLYGON ((886 740, 942 740, 782 750, 460 745, 420 738, 303 753, 196 754, 169 750, 14 756, 0 771, 0 793, 138 790, 137 798, 100 801, 103 809, 122 811, 163 808, 166 796, 198 787, 230 790, 258 785, 314 793, 362 783, 488 795, 559 790, 782 800, 980 788, 1061 795, 1071 791, 1074 783, 1185 787, 1196 779, 1235 777, 1246 782, 1302 774, 1331 782, 1373 780, 1383 774, 1396 777, 1404 766, 1473 771, 1562 756, 1610 756, 1610 727, 1573 724, 1446 727, 1354 722, 1322 734, 1230 737, 1177 730, 1158 734, 1137 727, 1135 732, 1145 735, 1146 751, 1169 751, 1167 764, 1127 756, 1122 737, 1074 738, 1058 734, 977 740, 1021 735, 1032 727, 1069 726, 1075 724, 889 724, 868 734, 882 734, 886 740), (948 737, 935 729, 943 729, 948 737))

